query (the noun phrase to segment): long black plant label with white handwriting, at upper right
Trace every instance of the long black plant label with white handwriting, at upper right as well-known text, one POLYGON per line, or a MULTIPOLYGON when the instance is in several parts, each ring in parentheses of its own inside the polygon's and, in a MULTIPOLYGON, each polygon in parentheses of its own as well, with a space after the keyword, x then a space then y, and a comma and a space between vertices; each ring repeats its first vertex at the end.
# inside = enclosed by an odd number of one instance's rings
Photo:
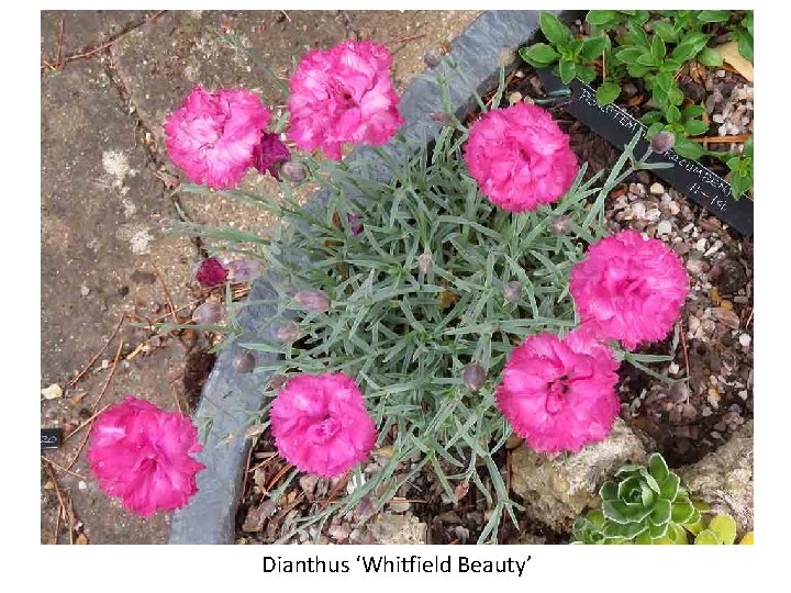
MULTIPOLYGON (((559 104, 610 144, 623 149, 639 132, 640 139, 637 142, 635 154, 642 155, 648 149, 646 139, 648 128, 615 104, 599 107, 595 90, 591 87, 576 78, 569 85, 564 85, 547 68, 539 68, 538 76, 547 92, 570 88, 571 96, 560 98, 559 104)), ((700 163, 679 156, 675 150, 668 150, 662 155, 653 154, 648 163, 672 164, 670 168, 651 172, 743 235, 753 234, 753 200, 746 197, 735 200, 731 184, 722 177, 700 163)))

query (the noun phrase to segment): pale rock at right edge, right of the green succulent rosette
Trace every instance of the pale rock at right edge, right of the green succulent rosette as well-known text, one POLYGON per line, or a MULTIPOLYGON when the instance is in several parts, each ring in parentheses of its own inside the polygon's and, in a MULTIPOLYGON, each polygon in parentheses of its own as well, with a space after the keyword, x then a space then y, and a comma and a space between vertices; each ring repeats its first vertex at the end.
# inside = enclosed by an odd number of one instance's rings
POLYGON ((692 499, 729 514, 739 533, 753 530, 753 421, 716 451, 677 473, 692 499))

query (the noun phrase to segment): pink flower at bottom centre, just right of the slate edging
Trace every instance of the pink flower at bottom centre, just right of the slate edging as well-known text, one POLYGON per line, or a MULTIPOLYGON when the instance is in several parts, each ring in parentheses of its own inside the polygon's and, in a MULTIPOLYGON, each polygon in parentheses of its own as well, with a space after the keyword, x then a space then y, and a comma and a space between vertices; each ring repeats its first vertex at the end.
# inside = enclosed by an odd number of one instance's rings
POLYGON ((342 372, 290 379, 269 418, 278 452, 309 473, 339 475, 368 457, 376 443, 363 394, 342 372))

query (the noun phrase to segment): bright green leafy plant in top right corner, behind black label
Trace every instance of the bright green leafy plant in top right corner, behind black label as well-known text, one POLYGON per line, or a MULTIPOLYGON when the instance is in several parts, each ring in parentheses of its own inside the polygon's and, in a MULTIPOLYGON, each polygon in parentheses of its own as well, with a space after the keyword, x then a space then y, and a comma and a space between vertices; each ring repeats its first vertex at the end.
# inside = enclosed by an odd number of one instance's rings
POLYGON ((710 150, 690 139, 705 134, 709 124, 702 119, 704 108, 686 98, 676 75, 691 61, 711 68, 723 65, 711 45, 716 38, 711 32, 714 26, 724 27, 738 42, 742 56, 753 60, 753 11, 592 10, 586 20, 591 35, 577 38, 557 16, 543 12, 539 25, 547 43, 523 47, 520 55, 536 68, 554 67, 564 83, 573 78, 586 83, 598 80, 600 105, 615 101, 627 79, 640 80, 654 105, 642 116, 648 137, 660 131, 672 132, 673 149, 680 156, 726 161, 734 171, 734 197, 744 194, 753 184, 751 157, 749 163, 734 160, 732 165, 729 153, 710 150))

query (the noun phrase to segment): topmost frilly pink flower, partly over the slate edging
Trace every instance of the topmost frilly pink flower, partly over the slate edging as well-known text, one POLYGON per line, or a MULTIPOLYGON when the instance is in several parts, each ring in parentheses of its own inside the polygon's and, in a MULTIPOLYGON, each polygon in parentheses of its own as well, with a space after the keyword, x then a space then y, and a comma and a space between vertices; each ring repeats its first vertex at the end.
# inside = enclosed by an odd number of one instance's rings
POLYGON ((346 142, 385 144, 403 123, 391 65, 390 52, 374 42, 309 52, 291 77, 289 139, 332 160, 346 142))

